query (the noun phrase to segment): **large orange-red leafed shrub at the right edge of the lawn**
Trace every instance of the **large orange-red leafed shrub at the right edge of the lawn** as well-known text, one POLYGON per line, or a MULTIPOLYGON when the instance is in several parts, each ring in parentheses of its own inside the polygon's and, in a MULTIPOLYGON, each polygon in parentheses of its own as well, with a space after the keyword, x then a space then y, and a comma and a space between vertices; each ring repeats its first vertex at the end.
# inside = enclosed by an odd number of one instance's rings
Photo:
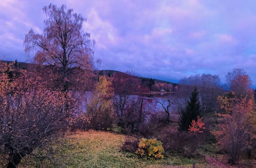
POLYGON ((217 139, 217 146, 228 156, 229 163, 237 164, 243 153, 250 152, 255 147, 255 129, 251 118, 255 115, 252 109, 252 99, 226 98, 219 96, 218 101, 224 113, 219 116, 217 130, 211 133, 217 139))

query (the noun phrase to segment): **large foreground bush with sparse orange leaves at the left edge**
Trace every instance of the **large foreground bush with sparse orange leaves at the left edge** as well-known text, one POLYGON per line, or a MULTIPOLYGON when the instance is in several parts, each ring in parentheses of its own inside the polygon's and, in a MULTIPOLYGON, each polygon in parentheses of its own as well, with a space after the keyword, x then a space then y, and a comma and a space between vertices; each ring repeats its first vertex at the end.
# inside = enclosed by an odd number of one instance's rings
POLYGON ((10 78, 1 66, 0 152, 7 156, 7 167, 16 167, 24 156, 63 135, 73 107, 63 92, 49 91, 27 71, 18 74, 10 78))

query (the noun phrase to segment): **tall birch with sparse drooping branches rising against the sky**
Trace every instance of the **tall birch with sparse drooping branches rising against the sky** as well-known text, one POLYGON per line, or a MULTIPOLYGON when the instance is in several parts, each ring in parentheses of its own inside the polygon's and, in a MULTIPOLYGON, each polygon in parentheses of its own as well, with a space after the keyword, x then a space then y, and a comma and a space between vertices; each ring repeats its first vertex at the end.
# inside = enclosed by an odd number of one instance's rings
POLYGON ((48 17, 44 21, 44 32, 36 34, 30 30, 24 41, 25 51, 34 49, 36 63, 57 68, 62 81, 62 91, 65 92, 74 83, 70 81, 74 79, 74 74, 81 72, 74 73, 74 69, 93 68, 95 42, 91 40, 90 33, 85 33, 82 29, 86 18, 74 13, 73 9, 66 10, 65 5, 58 8, 50 4, 45 6, 43 11, 48 17))

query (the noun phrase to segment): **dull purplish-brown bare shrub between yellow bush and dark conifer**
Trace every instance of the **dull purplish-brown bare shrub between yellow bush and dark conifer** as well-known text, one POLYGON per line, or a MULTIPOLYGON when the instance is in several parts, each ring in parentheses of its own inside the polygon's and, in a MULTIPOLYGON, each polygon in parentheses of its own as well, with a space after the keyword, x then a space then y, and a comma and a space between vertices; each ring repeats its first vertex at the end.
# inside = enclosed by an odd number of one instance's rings
POLYGON ((167 151, 175 151, 185 157, 194 157, 197 149, 204 142, 204 134, 178 131, 177 128, 166 127, 159 134, 159 139, 167 151))

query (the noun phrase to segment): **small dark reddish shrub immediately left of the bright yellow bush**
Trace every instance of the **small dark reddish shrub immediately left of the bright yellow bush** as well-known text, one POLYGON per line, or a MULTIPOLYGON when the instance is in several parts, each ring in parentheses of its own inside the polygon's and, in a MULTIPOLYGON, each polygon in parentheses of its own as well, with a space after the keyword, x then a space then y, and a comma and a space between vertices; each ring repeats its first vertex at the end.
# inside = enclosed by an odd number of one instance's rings
POLYGON ((138 148, 138 144, 139 144, 138 138, 133 137, 133 136, 126 136, 125 142, 121 149, 122 149, 122 151, 125 151, 125 152, 134 153, 138 148))

